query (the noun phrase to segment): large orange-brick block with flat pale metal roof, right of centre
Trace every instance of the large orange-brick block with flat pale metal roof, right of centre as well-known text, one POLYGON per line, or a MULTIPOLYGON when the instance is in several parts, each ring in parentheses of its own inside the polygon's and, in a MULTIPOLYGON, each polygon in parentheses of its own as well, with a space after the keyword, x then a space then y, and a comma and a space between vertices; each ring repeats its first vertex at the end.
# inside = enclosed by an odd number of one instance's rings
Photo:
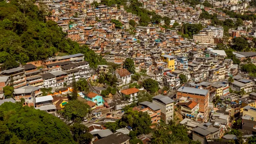
POLYGON ((177 90, 178 99, 181 97, 189 97, 194 102, 199 103, 199 112, 203 113, 207 119, 208 105, 209 105, 209 91, 204 89, 190 88, 190 87, 180 87, 177 90))

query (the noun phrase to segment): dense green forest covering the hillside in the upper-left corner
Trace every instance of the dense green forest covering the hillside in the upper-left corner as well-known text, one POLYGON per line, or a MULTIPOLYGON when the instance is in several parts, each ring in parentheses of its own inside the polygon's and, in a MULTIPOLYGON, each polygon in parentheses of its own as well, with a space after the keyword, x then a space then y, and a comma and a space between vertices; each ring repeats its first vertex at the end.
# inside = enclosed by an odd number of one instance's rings
POLYGON ((32 1, 12 0, 0 2, 0 63, 9 69, 20 63, 43 60, 65 54, 85 54, 91 66, 106 64, 87 46, 79 47, 77 42, 66 39, 66 33, 54 21, 46 21, 44 6, 32 1), (19 2, 22 2, 21 4, 19 2))

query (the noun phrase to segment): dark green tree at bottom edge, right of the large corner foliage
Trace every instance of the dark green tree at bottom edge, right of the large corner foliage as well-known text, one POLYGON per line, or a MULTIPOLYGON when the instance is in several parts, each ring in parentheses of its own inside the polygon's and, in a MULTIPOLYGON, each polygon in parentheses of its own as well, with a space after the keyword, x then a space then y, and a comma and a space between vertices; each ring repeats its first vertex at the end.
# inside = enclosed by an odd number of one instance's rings
POLYGON ((73 139, 77 143, 89 144, 93 138, 91 133, 89 133, 89 128, 83 124, 74 123, 72 126, 70 126, 70 131, 73 135, 73 139))

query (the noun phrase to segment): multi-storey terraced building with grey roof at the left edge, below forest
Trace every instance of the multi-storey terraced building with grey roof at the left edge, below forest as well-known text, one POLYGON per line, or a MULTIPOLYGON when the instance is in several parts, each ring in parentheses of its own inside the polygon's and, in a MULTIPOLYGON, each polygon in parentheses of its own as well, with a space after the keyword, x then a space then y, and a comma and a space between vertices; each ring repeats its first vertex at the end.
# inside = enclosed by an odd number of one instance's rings
POLYGON ((14 89, 20 88, 26 85, 25 68, 17 67, 4 70, 0 72, 0 76, 9 76, 13 79, 14 89))

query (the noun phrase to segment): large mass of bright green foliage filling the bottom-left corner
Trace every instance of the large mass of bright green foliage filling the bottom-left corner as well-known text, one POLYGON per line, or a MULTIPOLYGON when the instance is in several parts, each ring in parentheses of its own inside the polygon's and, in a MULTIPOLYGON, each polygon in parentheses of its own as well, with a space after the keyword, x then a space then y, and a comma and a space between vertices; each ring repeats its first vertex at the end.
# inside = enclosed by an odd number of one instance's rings
POLYGON ((0 143, 75 143, 69 128, 57 117, 17 103, 0 106, 0 143))

